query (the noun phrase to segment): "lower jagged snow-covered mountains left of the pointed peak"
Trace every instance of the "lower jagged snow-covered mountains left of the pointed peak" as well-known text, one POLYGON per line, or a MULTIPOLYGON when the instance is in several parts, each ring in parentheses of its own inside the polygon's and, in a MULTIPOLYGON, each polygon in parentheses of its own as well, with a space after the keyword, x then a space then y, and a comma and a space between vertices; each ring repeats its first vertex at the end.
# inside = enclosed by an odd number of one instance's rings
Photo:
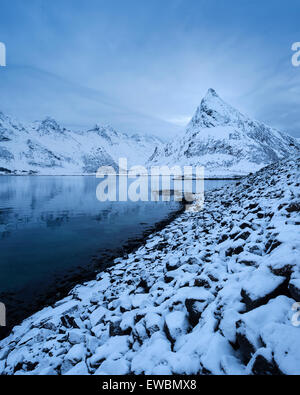
POLYGON ((55 120, 21 124, 0 112, 0 172, 4 174, 88 174, 100 166, 143 165, 161 142, 95 126, 84 132, 62 128, 55 120))

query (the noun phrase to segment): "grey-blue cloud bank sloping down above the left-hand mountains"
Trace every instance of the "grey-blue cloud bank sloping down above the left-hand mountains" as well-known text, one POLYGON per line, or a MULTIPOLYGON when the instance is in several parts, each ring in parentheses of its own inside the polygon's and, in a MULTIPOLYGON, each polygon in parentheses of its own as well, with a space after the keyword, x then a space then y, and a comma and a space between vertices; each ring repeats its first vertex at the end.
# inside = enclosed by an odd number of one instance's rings
POLYGON ((5 73, 0 73, 0 85, 6 92, 1 98, 1 111, 21 120, 32 121, 49 115, 67 127, 80 130, 109 124, 123 132, 154 134, 160 138, 179 131, 178 126, 129 109, 101 91, 39 69, 7 68, 5 73))

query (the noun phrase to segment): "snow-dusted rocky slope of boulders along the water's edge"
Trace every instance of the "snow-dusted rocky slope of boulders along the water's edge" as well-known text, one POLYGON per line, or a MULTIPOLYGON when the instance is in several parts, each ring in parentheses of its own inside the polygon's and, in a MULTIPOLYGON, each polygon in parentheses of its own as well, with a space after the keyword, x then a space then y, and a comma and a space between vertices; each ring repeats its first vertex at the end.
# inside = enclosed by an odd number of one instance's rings
POLYGON ((206 196, 0 343, 2 374, 299 374, 300 158, 206 196))

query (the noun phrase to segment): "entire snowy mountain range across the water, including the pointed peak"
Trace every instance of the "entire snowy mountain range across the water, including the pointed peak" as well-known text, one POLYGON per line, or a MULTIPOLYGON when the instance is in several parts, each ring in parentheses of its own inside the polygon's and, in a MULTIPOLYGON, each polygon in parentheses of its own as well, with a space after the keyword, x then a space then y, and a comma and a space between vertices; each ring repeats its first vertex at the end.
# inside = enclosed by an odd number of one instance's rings
POLYGON ((54 119, 19 123, 0 112, 1 174, 94 174, 101 166, 204 166, 207 178, 234 178, 300 152, 298 139, 252 120, 210 89, 185 134, 163 144, 110 126, 71 131, 54 119))

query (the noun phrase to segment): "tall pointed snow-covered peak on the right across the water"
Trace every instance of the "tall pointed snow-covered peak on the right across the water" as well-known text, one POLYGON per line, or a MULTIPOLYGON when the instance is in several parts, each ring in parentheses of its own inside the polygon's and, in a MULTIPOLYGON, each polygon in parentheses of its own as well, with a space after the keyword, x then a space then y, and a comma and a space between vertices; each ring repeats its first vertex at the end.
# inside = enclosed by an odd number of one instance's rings
POLYGON ((241 114, 209 89, 185 135, 158 147, 148 164, 198 165, 206 177, 234 177, 298 152, 296 139, 241 114))

